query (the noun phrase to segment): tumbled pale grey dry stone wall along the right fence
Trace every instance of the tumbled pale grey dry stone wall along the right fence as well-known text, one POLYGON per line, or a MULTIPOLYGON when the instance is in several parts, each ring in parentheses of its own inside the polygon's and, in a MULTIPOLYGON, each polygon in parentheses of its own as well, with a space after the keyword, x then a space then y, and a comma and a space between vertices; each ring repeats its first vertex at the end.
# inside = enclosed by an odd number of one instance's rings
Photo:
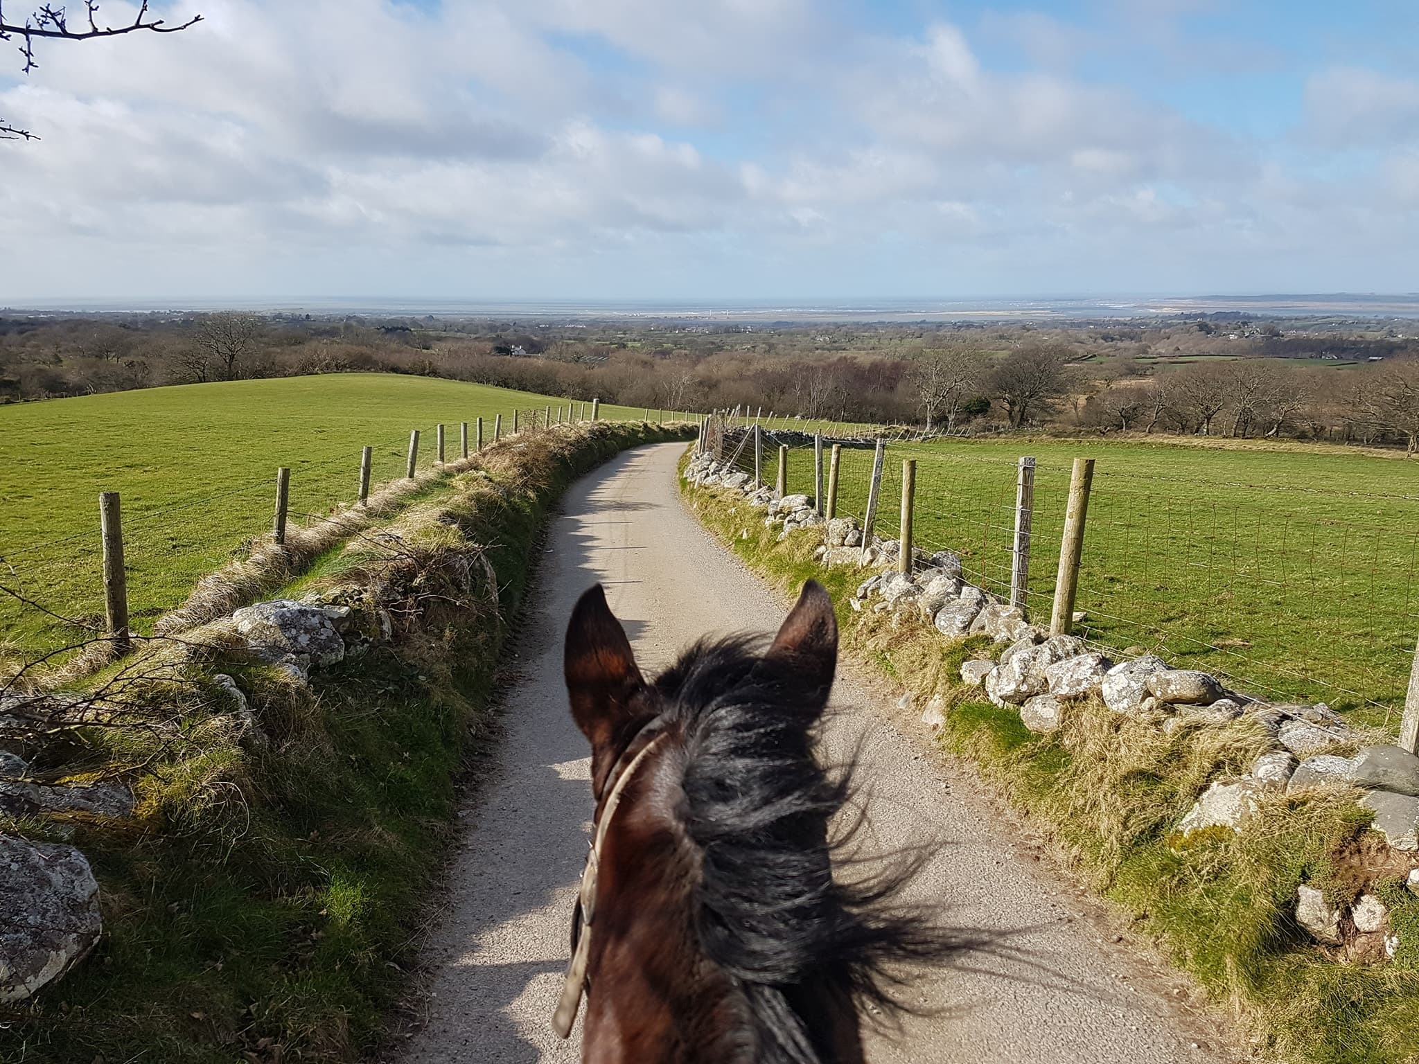
MULTIPOLYGON (((868 570, 851 599, 854 610, 931 626, 945 640, 989 636, 992 648, 961 667, 961 682, 992 704, 1017 711, 1032 732, 1059 729, 1069 704, 1087 698, 1166 732, 1237 722, 1260 726, 1271 749, 1240 777, 1212 780, 1176 824, 1179 838, 1206 829, 1244 831, 1269 794, 1304 796, 1341 787, 1374 813, 1381 838, 1419 865, 1419 758, 1352 729, 1324 702, 1273 702, 1233 691, 1209 672, 1172 668, 1154 654, 1117 653, 1074 636, 1050 636, 1019 607, 968 583, 961 559, 951 552, 915 550, 907 576, 897 570, 901 543, 876 535, 864 542, 854 518, 824 522, 807 495, 779 498, 772 488, 755 489, 746 474, 704 454, 688 462, 684 475, 698 487, 744 494, 751 506, 763 509, 766 526, 780 529, 779 539, 823 526, 817 549, 823 566, 868 570)), ((941 706, 928 705, 922 719, 939 725, 941 706)), ((1409 877, 1409 890, 1419 894, 1419 867, 1409 877)), ((1317 942, 1337 946, 1337 956, 1345 960, 1382 962, 1399 945, 1384 902, 1374 894, 1332 909, 1320 891, 1301 887, 1296 916, 1317 942)))

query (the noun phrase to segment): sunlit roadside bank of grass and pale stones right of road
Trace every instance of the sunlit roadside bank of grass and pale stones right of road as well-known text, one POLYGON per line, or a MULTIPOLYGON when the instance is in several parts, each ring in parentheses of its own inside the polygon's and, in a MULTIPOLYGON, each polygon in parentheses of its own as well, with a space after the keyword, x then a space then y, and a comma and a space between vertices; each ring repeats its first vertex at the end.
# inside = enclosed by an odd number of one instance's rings
POLYGON ((707 457, 683 472, 690 505, 751 567, 829 587, 844 647, 912 692, 944 749, 979 766, 1261 1053, 1419 1060, 1409 755, 1323 705, 1047 637, 966 583, 951 552, 902 575, 895 542, 864 545, 854 521, 824 522, 806 497, 755 491, 707 457))

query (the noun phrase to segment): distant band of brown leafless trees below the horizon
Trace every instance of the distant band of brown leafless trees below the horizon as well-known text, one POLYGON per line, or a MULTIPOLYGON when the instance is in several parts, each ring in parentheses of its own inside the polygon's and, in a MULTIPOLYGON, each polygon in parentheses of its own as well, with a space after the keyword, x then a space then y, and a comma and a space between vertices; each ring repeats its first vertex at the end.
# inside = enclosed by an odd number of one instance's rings
POLYGON ((0 401, 386 372, 939 433, 1182 433, 1419 451, 1419 342, 1222 328, 1249 332, 1219 336, 1210 322, 673 329, 250 314, 0 318, 0 401), (1308 358, 1277 355, 1281 342, 1308 358), (1355 365, 1323 360, 1340 352, 1355 365))

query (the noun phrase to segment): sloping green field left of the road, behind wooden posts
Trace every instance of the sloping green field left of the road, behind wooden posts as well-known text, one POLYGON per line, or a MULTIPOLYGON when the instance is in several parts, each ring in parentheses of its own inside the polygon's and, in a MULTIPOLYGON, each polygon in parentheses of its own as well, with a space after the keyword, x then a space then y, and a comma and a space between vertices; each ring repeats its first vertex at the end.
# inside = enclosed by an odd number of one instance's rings
MULTIPOLYGON (((419 467, 434 426, 458 457, 458 423, 568 400, 433 377, 375 373, 183 384, 0 406, 0 586, 88 624, 102 616, 98 492, 122 494, 133 627, 177 606, 204 573, 270 531, 278 465, 291 467, 292 521, 353 501, 360 447, 372 484, 404 474, 409 433, 419 467)), ((587 410, 590 404, 587 403, 587 410)), ((609 420, 644 410, 603 406, 609 420)), ((654 411, 653 411, 654 416, 654 411)), ((556 414, 553 413, 553 420, 556 414)), ((470 443, 470 447, 473 443, 470 443)), ((0 641, 53 648, 84 628, 0 594, 0 641)))

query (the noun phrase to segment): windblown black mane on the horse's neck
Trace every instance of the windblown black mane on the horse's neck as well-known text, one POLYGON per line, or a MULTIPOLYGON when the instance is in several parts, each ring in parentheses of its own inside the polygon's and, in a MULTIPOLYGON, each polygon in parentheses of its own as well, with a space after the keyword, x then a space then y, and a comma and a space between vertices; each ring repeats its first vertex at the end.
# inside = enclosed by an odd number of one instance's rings
POLYGON ((749 637, 701 641, 654 688, 684 736, 680 819, 695 863, 694 924, 705 956, 744 993, 755 1064, 824 1064, 802 1009, 812 994, 901 1006, 895 962, 954 945, 920 914, 888 908, 918 861, 867 882, 833 877, 829 823, 851 794, 851 765, 830 776, 815 755, 827 691, 749 637))

